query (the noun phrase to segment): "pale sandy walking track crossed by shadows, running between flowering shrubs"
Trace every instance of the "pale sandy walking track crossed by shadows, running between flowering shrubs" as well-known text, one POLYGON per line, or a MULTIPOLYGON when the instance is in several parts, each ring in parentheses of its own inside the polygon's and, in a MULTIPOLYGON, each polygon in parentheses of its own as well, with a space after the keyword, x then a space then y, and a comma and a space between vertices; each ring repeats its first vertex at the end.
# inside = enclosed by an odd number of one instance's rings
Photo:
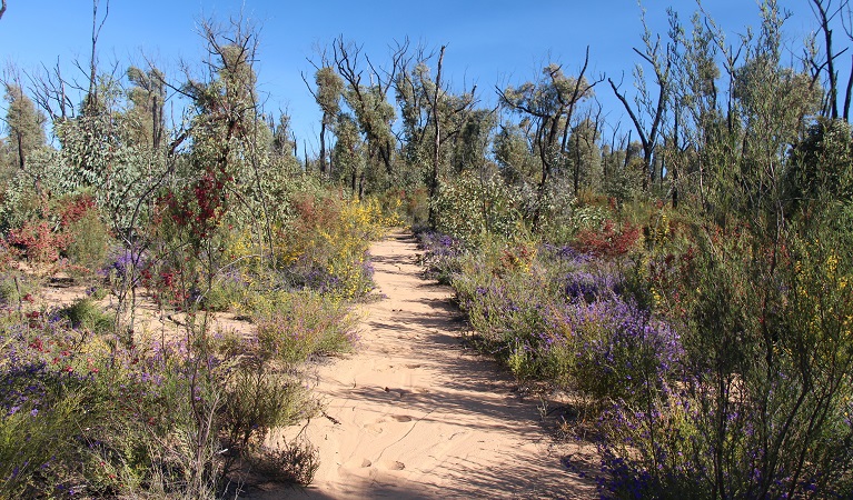
POLYGON ((387 298, 365 307, 358 351, 317 368, 329 418, 305 429, 320 454, 314 483, 249 498, 593 497, 561 466, 537 402, 462 347, 452 291, 420 279, 410 234, 370 251, 387 298))

